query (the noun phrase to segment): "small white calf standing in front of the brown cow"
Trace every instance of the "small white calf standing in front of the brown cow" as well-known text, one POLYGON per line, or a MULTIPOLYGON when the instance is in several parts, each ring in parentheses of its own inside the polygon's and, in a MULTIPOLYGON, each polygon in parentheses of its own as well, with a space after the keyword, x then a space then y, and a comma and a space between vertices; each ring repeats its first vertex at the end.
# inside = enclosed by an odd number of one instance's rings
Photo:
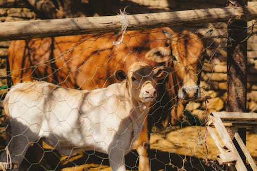
MULTIPOLYGON (((112 170, 125 170, 124 155, 137 139, 156 97, 154 78, 163 79, 168 72, 171 68, 153 70, 137 62, 127 74, 116 72, 123 83, 92 91, 47 82, 16 84, 4 101, 12 161, 19 165, 29 144, 43 139, 64 155, 80 149, 108 154, 112 170)), ((6 153, 1 162, 10 166, 6 153)))

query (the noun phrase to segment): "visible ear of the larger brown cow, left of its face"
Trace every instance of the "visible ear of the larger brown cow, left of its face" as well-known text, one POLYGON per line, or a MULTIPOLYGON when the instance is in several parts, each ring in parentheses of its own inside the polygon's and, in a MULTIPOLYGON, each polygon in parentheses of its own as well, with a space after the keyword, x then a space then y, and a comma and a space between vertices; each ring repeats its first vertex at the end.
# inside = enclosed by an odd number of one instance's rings
POLYGON ((171 49, 168 47, 156 47, 145 54, 145 59, 157 63, 169 61, 171 59, 171 49))

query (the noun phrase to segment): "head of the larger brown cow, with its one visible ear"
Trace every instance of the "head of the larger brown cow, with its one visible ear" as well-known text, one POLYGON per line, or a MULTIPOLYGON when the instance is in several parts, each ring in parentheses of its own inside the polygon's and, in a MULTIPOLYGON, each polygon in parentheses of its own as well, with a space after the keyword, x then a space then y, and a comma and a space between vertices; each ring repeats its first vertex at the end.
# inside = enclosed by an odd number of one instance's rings
POLYGON ((167 62, 174 68, 181 88, 178 97, 183 100, 200 98, 199 81, 202 68, 201 58, 204 49, 200 38, 189 31, 170 33, 163 30, 168 38, 166 45, 156 47, 146 53, 145 58, 157 63, 167 62))

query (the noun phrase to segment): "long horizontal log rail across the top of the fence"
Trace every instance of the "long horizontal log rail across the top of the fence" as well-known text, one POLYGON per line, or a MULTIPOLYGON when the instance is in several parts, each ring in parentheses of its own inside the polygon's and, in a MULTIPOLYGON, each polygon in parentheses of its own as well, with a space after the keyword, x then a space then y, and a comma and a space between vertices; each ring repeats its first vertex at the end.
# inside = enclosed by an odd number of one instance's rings
POLYGON ((63 18, 55 20, 37 20, 22 22, 0 23, 0 41, 25 40, 36 37, 51 37, 62 35, 76 35, 86 33, 117 32, 121 30, 124 17, 128 22, 127 30, 146 28, 171 27, 178 25, 193 25, 199 23, 245 22, 257 18, 257 3, 251 6, 233 9, 212 8, 162 13, 116 15, 100 17, 63 18))

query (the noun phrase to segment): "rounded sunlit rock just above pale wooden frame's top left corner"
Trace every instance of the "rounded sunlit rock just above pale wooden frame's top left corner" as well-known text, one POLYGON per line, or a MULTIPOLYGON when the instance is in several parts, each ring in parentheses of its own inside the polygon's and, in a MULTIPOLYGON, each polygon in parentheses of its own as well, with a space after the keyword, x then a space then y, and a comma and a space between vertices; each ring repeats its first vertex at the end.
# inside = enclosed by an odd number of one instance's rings
POLYGON ((219 111, 224 108, 224 101, 221 98, 209 99, 208 102, 203 102, 201 106, 203 109, 208 109, 210 111, 219 111))

